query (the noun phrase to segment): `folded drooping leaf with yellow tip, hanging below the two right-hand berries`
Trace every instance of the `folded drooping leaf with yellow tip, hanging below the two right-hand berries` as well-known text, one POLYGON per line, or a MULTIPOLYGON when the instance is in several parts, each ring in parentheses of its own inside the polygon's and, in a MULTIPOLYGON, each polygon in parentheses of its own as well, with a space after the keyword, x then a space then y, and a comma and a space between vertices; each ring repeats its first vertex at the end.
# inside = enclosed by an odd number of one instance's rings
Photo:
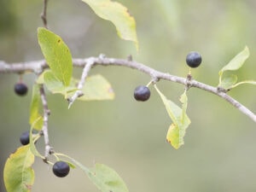
POLYGON ((187 105, 188 105, 188 97, 186 95, 186 91, 180 97, 180 102, 182 102, 182 108, 179 108, 177 104, 168 100, 166 96, 164 96, 160 90, 157 88, 156 84, 154 84, 155 90, 157 90, 160 95, 165 107, 166 111, 172 119, 172 125, 170 125, 169 130, 167 131, 166 140, 168 143, 172 144, 173 148, 179 148, 184 144, 183 137, 185 136, 186 129, 188 128, 190 119, 186 113, 187 105))

